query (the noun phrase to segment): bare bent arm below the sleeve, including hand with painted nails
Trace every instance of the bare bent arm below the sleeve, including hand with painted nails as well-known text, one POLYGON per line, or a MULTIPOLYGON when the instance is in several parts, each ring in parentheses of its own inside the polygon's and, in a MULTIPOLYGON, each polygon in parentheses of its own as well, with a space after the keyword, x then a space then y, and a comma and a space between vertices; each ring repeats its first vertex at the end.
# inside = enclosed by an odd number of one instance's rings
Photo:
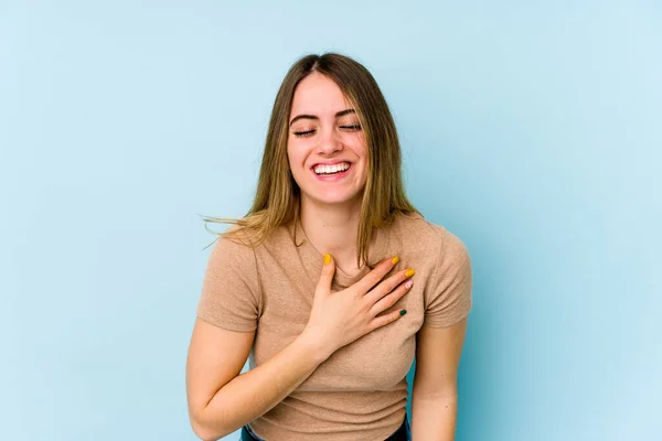
POLYGON ((331 293, 335 266, 332 260, 325 262, 306 330, 274 357, 242 375, 255 331, 227 331, 197 319, 186 363, 189 415, 195 434, 217 440, 237 430, 276 407, 338 348, 398 320, 398 310, 378 315, 408 291, 405 281, 410 276, 404 270, 378 283, 395 263, 386 259, 354 286, 331 293))

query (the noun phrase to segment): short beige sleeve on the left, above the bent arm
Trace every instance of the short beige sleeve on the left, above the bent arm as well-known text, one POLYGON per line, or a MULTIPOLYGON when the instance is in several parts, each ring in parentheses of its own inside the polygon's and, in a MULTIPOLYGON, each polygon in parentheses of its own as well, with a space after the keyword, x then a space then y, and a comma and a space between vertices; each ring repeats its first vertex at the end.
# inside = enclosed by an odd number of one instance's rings
POLYGON ((220 237, 207 262, 197 316, 228 331, 257 329, 259 284, 253 248, 220 237))

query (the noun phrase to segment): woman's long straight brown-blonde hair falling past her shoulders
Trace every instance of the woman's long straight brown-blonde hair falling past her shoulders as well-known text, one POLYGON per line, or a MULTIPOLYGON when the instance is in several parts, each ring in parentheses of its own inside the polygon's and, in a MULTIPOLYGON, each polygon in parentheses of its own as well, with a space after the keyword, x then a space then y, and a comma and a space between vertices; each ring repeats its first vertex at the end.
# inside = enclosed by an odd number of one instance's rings
POLYGON ((367 265, 373 227, 389 225, 398 213, 419 212, 405 195, 397 131, 377 83, 363 65, 338 53, 306 55, 285 76, 271 110, 255 200, 246 216, 204 220, 237 225, 221 235, 249 246, 261 244, 274 228, 298 220, 300 189, 288 163, 288 120, 297 85, 313 72, 340 87, 354 107, 367 142, 367 181, 356 244, 359 266, 367 265))

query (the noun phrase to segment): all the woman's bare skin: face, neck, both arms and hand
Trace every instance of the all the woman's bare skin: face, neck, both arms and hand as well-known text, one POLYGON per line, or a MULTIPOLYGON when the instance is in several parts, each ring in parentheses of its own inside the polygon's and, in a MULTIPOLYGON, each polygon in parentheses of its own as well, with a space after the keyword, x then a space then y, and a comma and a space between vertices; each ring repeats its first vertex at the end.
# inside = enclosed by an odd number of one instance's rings
MULTIPOLYGON (((357 283, 331 293, 337 268, 357 271, 355 248, 362 192, 367 179, 367 147, 357 117, 340 88, 311 74, 298 85, 292 103, 288 162, 301 189, 301 223, 312 245, 329 261, 316 288, 306 330, 273 358, 241 374, 255 332, 226 331, 197 319, 186 359, 186 395, 193 431, 217 440, 266 413, 290 395, 335 351, 377 327, 402 320, 382 314, 410 289, 406 269, 385 276, 396 261, 385 259, 357 283), (349 161, 341 180, 320 181, 319 162, 349 161), (331 258, 331 256, 333 256, 331 258)), ((406 316, 406 315, 405 315, 406 316)), ((463 325, 421 330, 414 387, 415 439, 451 440, 456 376, 463 325)))

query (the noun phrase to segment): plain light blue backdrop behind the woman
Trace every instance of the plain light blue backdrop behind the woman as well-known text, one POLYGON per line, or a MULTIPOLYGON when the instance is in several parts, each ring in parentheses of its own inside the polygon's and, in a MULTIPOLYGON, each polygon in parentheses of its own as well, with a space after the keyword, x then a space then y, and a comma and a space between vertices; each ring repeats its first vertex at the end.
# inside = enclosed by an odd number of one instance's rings
POLYGON ((137 3, 0 1, 0 439, 194 439, 199 215, 245 213, 324 51, 470 249, 457 439, 662 439, 659 2, 137 3))

